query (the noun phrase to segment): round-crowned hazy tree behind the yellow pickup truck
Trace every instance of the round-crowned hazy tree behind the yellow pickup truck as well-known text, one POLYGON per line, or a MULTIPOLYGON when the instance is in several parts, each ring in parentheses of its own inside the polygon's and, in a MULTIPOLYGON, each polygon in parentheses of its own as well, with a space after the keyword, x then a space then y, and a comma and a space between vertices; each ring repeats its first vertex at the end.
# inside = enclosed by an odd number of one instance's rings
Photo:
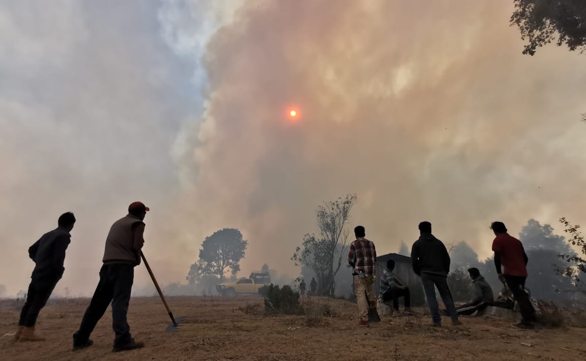
POLYGON ((242 233, 237 229, 224 228, 216 231, 203 241, 199 260, 192 265, 190 274, 192 277, 196 276, 195 279, 197 275, 215 275, 223 282, 227 270, 232 275, 240 271, 240 260, 244 257, 247 246, 248 241, 243 239, 242 233))

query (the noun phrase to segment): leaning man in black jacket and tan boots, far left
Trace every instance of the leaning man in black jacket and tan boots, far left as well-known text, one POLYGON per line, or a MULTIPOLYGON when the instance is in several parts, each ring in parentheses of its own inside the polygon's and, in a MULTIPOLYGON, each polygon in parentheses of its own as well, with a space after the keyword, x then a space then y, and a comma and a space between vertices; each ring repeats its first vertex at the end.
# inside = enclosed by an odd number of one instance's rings
POLYGON ((35 244, 30 246, 29 257, 35 261, 35 269, 30 276, 29 290, 26 293, 25 305, 22 306, 18 331, 14 336, 15 341, 45 340, 35 335, 36 319, 40 310, 45 307, 57 282, 63 277, 65 251, 71 241, 70 232, 75 221, 73 213, 63 213, 57 221, 58 227, 43 234, 35 244))

